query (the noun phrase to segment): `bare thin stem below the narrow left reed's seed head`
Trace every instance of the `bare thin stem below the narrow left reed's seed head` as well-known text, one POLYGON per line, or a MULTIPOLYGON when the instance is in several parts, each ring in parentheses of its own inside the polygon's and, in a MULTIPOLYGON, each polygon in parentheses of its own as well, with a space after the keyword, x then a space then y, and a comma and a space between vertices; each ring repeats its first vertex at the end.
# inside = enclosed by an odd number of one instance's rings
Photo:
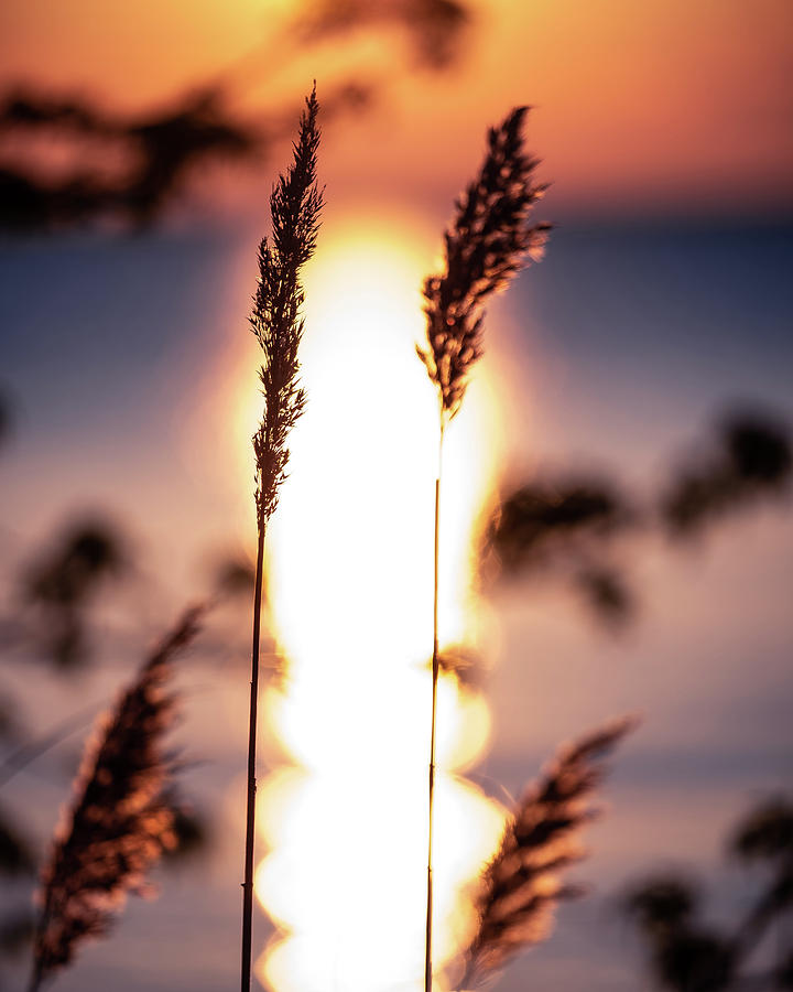
POLYGON ((251 698, 248 726, 248 807, 246 816, 246 860, 242 883, 242 992, 251 984, 253 927, 253 842, 256 837, 256 746, 259 704, 259 641, 261 635, 262 575, 264 565, 264 515, 259 515, 259 547, 253 593, 253 644, 251 647, 251 698))

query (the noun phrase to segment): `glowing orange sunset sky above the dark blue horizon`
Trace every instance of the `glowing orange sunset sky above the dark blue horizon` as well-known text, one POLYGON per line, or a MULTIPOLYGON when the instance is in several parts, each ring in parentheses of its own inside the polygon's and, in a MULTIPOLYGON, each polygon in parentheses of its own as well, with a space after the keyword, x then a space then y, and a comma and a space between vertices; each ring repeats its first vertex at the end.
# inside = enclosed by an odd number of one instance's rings
POLYGON ((377 82, 380 112, 328 134, 324 172, 337 200, 365 186, 378 200, 446 203, 486 125, 530 103, 532 144, 563 213, 790 208, 789 0, 475 3, 466 55, 446 74, 417 69, 393 26, 298 53, 287 25, 304 6, 10 0, 2 77, 132 108, 230 73, 238 106, 264 110, 296 99, 313 76, 321 95, 349 74, 377 82))

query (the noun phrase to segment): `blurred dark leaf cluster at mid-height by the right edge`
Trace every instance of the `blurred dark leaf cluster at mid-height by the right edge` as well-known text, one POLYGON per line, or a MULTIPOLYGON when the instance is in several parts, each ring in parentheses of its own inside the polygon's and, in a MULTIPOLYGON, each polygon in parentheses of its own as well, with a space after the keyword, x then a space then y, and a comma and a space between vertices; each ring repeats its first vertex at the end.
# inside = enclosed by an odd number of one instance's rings
POLYGON ((676 542, 699 538, 716 522, 787 494, 792 470, 782 419, 743 409, 723 417, 644 505, 606 475, 539 477, 492 509, 480 552, 482 585, 492 589, 499 578, 561 580, 599 621, 622 624, 639 602, 626 568, 638 540, 653 533, 676 542))

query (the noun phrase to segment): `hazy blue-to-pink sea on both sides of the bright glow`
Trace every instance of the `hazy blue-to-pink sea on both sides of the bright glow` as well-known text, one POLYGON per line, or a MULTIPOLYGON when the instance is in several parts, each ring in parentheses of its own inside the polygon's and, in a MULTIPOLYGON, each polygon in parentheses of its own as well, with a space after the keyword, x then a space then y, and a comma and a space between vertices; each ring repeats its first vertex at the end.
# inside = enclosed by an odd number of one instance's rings
MULTIPOLYGON (((252 277, 252 246, 233 231, 0 244, 7 592, 29 542, 86 505, 124 519, 157 500, 169 519, 191 502, 192 520, 225 511, 219 496, 196 493, 183 439, 162 424, 207 381, 204 356, 217 355, 218 335, 245 333, 239 273, 252 277)), ((493 311, 503 325, 497 365, 511 395, 525 393, 510 421, 515 457, 606 466, 649 490, 724 409, 760 405, 793 423, 792 271, 789 227, 562 226, 542 267, 493 311)), ((145 535, 145 521, 137 526, 145 535)), ((591 894, 562 909, 552 939, 504 974, 502 992, 650 988, 618 902, 629 880, 659 865, 702 875, 714 921, 749 905, 754 876, 726 865, 724 840, 749 802, 790 789, 792 552, 789 503, 684 554, 653 547, 636 570, 647 607, 617 639, 561 595, 515 595, 503 607, 493 748, 478 780, 518 792, 557 741, 616 711, 642 709, 645 729, 615 762, 593 856, 575 871, 591 894)), ((23 694, 21 665, 7 664, 3 681, 23 694)), ((54 719, 31 699, 24 713, 40 727, 54 719)), ((235 815, 218 797, 242 754, 202 747, 188 721, 191 734, 203 765, 188 783, 216 818, 213 860, 160 873, 159 901, 132 899, 113 936, 58 980, 63 992, 233 986, 241 858, 235 815)), ((2 789, 3 809, 32 819, 42 842, 67 796, 74 748, 2 789)), ((28 889, 3 883, 0 905, 22 905, 28 889)), ((772 940, 761 957, 774 953, 772 940)), ((23 973, 9 967, 1 986, 21 989, 23 973)))

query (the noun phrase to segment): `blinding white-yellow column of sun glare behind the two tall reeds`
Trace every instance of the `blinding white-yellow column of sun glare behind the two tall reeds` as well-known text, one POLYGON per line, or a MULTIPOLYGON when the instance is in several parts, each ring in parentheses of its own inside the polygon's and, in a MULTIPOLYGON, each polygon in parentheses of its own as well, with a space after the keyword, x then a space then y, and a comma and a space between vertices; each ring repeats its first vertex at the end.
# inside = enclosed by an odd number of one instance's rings
MULTIPOLYGON (((413 351, 426 262, 415 235, 378 230, 332 236, 306 272, 309 406, 268 538, 289 673, 267 713, 295 763, 259 794, 270 853, 257 893, 286 936, 258 969, 278 992, 422 986, 437 407, 413 351)), ((476 639, 469 546, 495 471, 488 395, 471 388, 444 452, 442 644, 476 639)), ((470 926, 460 889, 502 824, 453 775, 488 730, 481 697, 442 680, 437 964, 470 926)))

